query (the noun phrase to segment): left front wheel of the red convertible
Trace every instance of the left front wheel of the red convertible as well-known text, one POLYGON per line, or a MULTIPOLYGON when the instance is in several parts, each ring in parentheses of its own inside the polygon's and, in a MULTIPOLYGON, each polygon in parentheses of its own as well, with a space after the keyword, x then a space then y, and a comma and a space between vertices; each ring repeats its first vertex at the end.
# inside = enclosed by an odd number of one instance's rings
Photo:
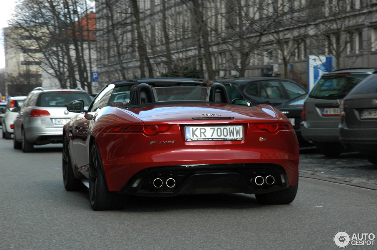
POLYGON ((81 182, 81 180, 76 179, 73 175, 72 164, 69 156, 68 142, 66 137, 63 138, 63 183, 64 188, 67 191, 83 191, 87 187, 81 182))

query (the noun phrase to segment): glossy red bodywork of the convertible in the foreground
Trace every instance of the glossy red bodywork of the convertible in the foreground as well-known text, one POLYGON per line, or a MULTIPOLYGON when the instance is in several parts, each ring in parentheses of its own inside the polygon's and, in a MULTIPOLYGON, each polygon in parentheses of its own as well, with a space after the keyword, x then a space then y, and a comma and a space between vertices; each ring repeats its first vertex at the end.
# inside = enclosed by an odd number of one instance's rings
MULTIPOLYGON (((98 145, 109 191, 121 188, 139 171, 156 166, 196 164, 244 164, 269 163, 284 168, 289 185, 296 182, 299 164, 299 145, 291 129, 269 133, 260 130, 255 123, 289 123, 287 117, 269 105, 245 107, 228 104, 159 105, 142 108, 106 107, 93 120, 87 121, 87 137, 77 138, 70 153, 80 158, 89 155, 90 141, 98 145), (193 120, 203 114, 219 114, 234 117, 232 120, 193 120), (112 127, 128 125, 172 124, 169 130, 155 136, 143 133, 109 132, 112 127), (242 141, 185 141, 187 125, 242 124, 242 141), (260 138, 265 138, 261 141, 260 138), (79 142, 80 141, 80 142, 79 142), (169 142, 170 141, 170 142, 169 142), (153 142, 153 143, 152 143, 153 142), (80 150, 78 150, 78 148, 80 150)), ((64 129, 70 130, 74 120, 64 129)), ((77 125, 77 124, 75 124, 77 125)), ((72 128, 71 128, 72 129, 72 128)), ((69 139, 66 132, 67 139, 69 139)), ((75 136, 73 136, 75 137, 75 136)), ((74 140, 73 140, 74 141, 74 140)), ((73 143, 70 142, 72 146, 73 143)), ((87 160, 72 162, 75 176, 86 172, 87 160)), ((73 160, 72 160, 73 161, 73 160)))

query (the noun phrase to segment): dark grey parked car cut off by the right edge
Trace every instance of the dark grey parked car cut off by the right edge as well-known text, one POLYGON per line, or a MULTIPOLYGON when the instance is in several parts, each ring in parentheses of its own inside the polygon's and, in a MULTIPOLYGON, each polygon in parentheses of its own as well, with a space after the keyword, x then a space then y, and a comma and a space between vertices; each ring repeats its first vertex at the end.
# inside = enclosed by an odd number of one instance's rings
POLYGON ((339 139, 377 165, 377 72, 355 86, 340 105, 339 139))

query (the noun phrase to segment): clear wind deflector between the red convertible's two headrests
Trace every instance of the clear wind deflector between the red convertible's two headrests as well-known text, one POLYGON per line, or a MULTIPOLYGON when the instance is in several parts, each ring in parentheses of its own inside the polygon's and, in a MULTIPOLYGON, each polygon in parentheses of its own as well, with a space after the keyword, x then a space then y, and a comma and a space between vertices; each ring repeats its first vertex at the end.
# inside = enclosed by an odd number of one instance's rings
POLYGON ((208 87, 156 87, 158 102, 206 101, 208 87))

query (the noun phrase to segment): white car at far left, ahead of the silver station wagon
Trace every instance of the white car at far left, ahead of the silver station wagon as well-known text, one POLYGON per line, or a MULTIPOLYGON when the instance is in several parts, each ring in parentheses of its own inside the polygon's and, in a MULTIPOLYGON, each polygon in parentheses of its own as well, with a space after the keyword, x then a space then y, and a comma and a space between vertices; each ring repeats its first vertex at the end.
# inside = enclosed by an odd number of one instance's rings
POLYGON ((9 98, 5 109, 5 115, 2 119, 3 138, 7 140, 12 139, 13 122, 25 99, 26 96, 14 96, 9 98))

